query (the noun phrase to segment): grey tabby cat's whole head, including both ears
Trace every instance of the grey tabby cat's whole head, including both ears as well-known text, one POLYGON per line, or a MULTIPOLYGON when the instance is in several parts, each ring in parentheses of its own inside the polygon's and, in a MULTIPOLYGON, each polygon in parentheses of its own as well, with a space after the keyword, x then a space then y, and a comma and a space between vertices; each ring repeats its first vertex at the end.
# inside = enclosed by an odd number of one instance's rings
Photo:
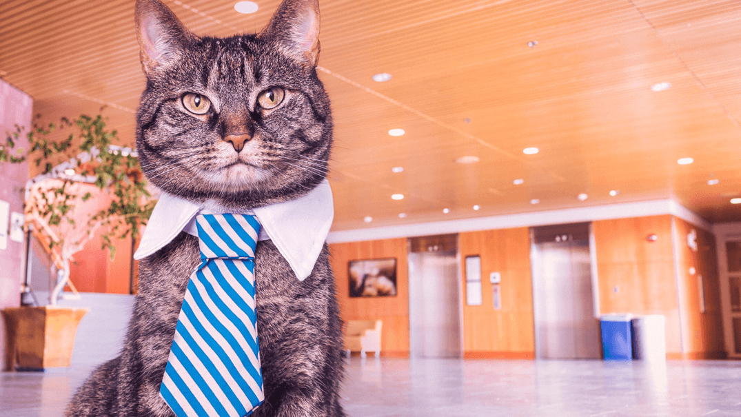
POLYGON ((147 88, 136 146, 147 179, 191 201, 257 207, 326 176, 329 100, 316 76, 316 0, 285 0, 259 35, 199 38, 139 0, 147 88))

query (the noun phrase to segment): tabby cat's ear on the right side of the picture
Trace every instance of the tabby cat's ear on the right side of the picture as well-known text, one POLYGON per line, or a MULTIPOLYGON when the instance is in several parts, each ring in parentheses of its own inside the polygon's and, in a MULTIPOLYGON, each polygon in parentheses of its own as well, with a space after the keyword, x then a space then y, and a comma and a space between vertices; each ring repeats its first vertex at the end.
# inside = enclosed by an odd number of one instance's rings
POLYGON ((259 34, 271 39, 290 56, 315 67, 319 62, 319 1, 283 0, 259 34))

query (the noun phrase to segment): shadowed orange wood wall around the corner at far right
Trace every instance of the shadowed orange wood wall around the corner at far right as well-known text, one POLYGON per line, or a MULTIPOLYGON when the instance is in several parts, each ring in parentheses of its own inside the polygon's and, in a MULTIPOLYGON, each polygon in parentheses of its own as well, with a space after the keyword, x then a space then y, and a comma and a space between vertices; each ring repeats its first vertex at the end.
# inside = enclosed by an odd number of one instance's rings
POLYGON ((675 217, 674 224, 684 356, 725 358, 715 236, 681 218, 675 217), (697 233, 697 251, 688 245, 692 230, 697 233))

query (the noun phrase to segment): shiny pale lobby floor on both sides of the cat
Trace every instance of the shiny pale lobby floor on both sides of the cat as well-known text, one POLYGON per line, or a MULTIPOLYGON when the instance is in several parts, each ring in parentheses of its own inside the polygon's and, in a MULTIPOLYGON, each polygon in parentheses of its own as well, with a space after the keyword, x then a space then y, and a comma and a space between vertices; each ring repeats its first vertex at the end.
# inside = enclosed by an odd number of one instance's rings
MULTIPOLYGON (((58 417, 91 367, 1 373, 0 416, 58 417)), ((350 417, 741 416, 741 361, 350 358, 350 417)))

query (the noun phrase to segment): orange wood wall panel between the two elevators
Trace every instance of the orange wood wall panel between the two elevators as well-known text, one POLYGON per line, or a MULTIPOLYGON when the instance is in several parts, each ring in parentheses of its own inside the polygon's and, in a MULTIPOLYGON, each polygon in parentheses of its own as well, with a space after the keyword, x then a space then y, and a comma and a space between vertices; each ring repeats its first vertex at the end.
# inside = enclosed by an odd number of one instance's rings
POLYGON ((468 358, 534 358, 533 280, 527 227, 459 235, 461 258, 481 257, 483 303, 466 305, 463 263, 463 349, 468 358), (502 309, 494 310, 489 273, 502 274, 502 309))

